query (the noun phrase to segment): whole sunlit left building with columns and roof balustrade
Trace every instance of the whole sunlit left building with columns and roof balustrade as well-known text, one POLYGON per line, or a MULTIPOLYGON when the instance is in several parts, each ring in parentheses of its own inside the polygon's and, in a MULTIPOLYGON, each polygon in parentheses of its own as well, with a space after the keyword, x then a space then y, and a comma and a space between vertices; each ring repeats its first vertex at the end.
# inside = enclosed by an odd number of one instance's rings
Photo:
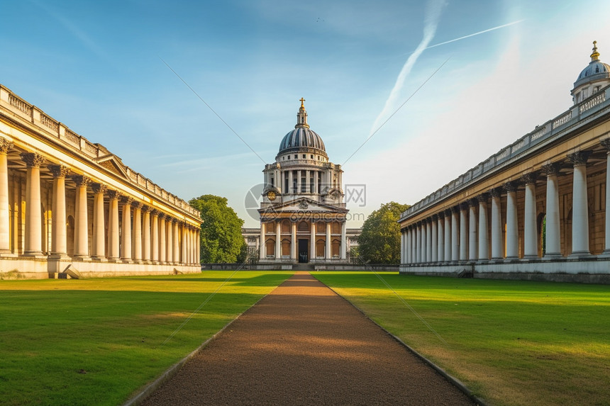
POLYGON ((0 276, 199 272, 199 212, 0 85, 0 276))

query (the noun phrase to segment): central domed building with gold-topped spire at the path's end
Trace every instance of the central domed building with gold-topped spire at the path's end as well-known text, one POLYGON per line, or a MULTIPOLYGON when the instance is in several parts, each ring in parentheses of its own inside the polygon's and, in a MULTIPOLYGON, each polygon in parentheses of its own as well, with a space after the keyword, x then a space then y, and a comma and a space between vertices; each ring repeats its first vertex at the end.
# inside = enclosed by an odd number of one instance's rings
POLYGON ((346 260, 340 165, 328 160, 320 135, 309 128, 304 98, 294 130, 263 170, 260 263, 339 263, 346 260))

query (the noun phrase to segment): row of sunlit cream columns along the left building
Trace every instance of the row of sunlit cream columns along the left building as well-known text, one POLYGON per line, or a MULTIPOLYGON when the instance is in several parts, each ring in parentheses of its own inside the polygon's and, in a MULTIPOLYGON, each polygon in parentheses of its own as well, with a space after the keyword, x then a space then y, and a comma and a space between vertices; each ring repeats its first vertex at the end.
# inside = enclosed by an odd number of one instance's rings
MULTIPOLYGON (((0 137, 0 255, 11 250, 8 152, 13 144, 0 137)), ((50 252, 43 252, 40 168, 46 162, 35 152, 21 153, 26 164, 23 256, 69 259, 67 255, 66 180, 72 181, 74 253, 76 261, 115 261, 144 264, 199 264, 199 227, 126 196, 87 175, 71 174, 60 164, 48 164, 52 174, 50 252), (93 216, 88 215, 87 191, 93 192, 93 216), (107 210, 104 198, 107 198, 107 210), (119 208, 121 221, 119 222, 119 208), (89 242, 89 220, 93 233, 89 242), (107 223, 107 227, 106 227, 107 223), (120 238, 120 240, 119 240, 120 238)))

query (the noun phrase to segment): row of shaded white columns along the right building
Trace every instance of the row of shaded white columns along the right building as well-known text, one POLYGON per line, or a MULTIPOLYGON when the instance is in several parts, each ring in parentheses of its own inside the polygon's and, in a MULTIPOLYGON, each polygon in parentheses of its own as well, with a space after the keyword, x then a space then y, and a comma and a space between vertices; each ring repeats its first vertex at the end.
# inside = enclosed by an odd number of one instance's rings
MULTIPOLYGON (((610 169, 610 140, 601 140, 600 144, 606 150, 603 254, 610 254, 610 215, 607 215, 610 213, 610 176, 607 176, 610 169)), ((542 256, 539 249, 542 230, 536 210, 536 181, 540 180, 545 180, 546 192, 543 257, 562 258, 558 176, 560 169, 567 166, 572 169, 572 232, 565 235, 565 239, 571 241, 569 257, 580 259, 590 256, 587 161, 591 154, 592 151, 586 150, 567 154, 565 161, 544 164, 536 171, 522 174, 518 180, 494 185, 473 198, 407 223, 401 229, 401 264, 538 259, 542 256), (517 204, 518 188, 524 190, 522 207, 517 204), (506 203, 502 208, 501 196, 504 195, 506 203), (520 217, 521 224, 518 222, 520 217), (523 230, 521 253, 519 225, 523 230)))

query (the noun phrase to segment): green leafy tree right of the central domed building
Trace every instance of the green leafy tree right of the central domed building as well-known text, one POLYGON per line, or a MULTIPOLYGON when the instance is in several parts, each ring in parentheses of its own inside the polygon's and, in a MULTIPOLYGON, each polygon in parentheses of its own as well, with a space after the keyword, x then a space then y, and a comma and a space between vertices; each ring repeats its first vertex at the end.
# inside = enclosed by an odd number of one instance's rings
POLYGON ((371 264, 400 263, 400 225, 398 220, 410 205, 389 202, 373 211, 362 225, 358 237, 360 258, 371 264))

